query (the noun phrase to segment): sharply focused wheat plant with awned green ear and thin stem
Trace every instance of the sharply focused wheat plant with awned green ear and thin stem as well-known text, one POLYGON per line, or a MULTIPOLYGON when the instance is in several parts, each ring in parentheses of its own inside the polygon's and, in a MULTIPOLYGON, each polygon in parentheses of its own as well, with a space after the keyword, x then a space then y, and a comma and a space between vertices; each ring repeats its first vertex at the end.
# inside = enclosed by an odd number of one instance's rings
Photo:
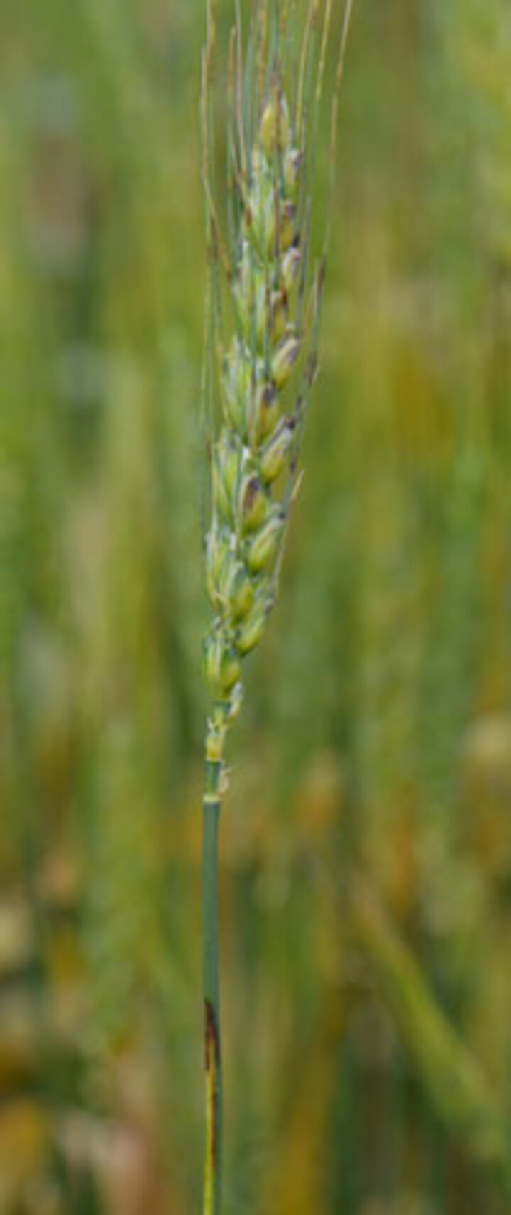
MULTIPOLYGON (((333 87, 333 151, 351 7, 348 0, 333 87)), ((212 610, 204 643, 211 701, 205 738, 203 846, 205 1215, 221 1210, 217 872, 225 744, 242 703, 243 661, 261 640, 277 595, 316 378, 324 252, 312 266, 313 152, 333 0, 310 0, 303 11, 285 0, 260 0, 251 11, 246 46, 239 4, 234 12, 227 74, 226 225, 218 219, 214 181, 212 0, 203 66, 210 271, 204 374, 210 446, 205 573, 212 610)), ((325 239, 327 231, 324 247, 325 239)))

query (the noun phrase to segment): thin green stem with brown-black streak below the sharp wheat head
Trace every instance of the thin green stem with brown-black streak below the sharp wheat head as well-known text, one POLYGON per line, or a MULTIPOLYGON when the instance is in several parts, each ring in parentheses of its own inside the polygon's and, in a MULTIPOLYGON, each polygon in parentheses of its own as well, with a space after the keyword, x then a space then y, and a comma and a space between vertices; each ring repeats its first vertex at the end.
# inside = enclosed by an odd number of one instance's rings
POLYGON ((222 1059, 218 981, 218 820, 222 759, 206 758, 203 835, 203 950, 205 1018, 204 1215, 222 1209, 222 1059))

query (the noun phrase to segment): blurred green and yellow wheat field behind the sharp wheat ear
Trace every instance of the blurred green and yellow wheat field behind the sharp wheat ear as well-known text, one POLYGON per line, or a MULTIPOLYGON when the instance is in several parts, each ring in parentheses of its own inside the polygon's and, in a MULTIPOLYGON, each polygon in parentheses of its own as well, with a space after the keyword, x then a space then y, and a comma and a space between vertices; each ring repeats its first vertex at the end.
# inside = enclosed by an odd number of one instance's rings
MULTIPOLYGON (((0 17, 1 1215, 200 1206, 203 36, 0 17)), ((356 5, 231 742, 228 1215, 511 1210, 510 79, 509 0, 356 5)))

